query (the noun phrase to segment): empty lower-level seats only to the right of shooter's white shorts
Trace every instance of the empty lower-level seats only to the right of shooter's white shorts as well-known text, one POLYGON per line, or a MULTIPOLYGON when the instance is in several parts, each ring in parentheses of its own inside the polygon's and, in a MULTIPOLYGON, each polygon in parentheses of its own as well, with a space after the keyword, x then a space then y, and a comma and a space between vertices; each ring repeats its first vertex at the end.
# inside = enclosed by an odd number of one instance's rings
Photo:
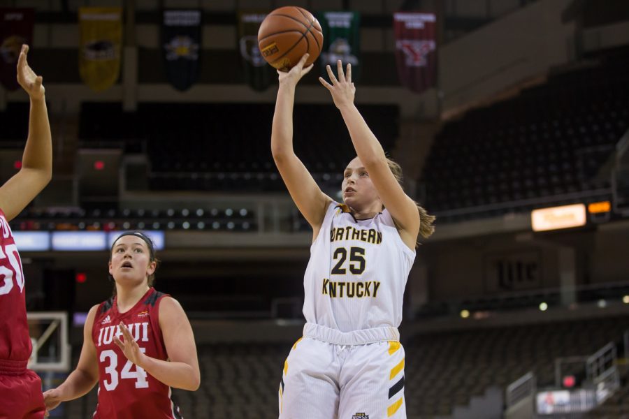
POLYGON ((417 335, 405 344, 409 418, 449 416, 528 371, 538 387, 551 385, 555 358, 594 353, 628 327, 621 317, 417 335))

